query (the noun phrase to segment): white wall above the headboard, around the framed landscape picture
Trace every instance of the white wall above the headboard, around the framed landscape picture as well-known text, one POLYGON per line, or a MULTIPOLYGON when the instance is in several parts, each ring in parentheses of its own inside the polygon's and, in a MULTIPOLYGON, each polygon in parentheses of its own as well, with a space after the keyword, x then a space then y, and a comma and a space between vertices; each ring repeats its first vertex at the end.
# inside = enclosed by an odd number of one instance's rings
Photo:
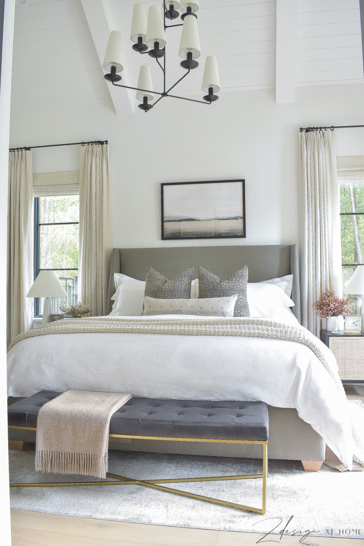
MULTIPOLYGON (((222 92, 212 105, 166 98, 147 114, 136 109, 125 117, 106 105, 51 111, 17 105, 11 145, 108 139, 114 246, 291 244, 299 239, 299 128, 364 124, 363 105, 361 84, 299 87, 293 104, 275 104, 274 90, 222 92), (160 239, 160 182, 240 177, 246 239, 160 239)), ((338 155, 364 154, 364 130, 352 130, 360 138, 337 130, 338 155)), ((76 147, 34 150, 34 171, 77 169, 77 155, 76 147)))

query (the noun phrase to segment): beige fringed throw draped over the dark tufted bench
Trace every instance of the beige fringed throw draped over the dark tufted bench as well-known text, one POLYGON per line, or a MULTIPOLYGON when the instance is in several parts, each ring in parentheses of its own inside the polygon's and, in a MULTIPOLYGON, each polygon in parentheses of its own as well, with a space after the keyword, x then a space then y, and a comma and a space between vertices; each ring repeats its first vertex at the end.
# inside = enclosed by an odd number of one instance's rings
POLYGON ((35 470, 105 478, 109 424, 132 395, 68 390, 40 408, 35 470))

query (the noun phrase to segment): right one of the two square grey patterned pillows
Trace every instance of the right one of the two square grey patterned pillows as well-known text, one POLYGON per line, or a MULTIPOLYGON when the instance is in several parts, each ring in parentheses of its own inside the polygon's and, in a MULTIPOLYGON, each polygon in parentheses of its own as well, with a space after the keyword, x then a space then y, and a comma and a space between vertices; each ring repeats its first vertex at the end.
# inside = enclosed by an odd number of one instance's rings
POLYGON ((225 281, 210 273, 204 268, 199 268, 199 298, 219 298, 237 294, 234 309, 234 317, 249 317, 249 305, 247 300, 248 266, 235 271, 225 281))

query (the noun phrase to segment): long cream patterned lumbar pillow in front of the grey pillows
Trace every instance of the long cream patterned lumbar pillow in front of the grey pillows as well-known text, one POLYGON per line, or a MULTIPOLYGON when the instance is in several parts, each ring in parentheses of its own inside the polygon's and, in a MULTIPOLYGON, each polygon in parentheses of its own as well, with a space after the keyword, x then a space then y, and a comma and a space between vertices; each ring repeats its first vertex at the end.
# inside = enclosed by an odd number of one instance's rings
POLYGON ((205 317, 233 317, 237 294, 226 298, 156 299, 144 298, 143 314, 195 314, 205 317))

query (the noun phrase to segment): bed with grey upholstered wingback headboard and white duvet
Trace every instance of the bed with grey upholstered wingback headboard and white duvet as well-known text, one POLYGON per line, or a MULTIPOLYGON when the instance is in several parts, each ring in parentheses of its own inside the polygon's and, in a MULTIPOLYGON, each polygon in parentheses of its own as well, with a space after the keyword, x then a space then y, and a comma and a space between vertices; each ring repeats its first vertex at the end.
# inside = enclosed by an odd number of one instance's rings
MULTIPOLYGON (((202 266, 220 278, 226 278, 242 265, 247 265, 249 282, 293 274, 291 295, 295 302, 293 312, 300 322, 296 245, 114 248, 109 296, 115 292, 115 272, 143 280, 148 265, 160 271, 166 278, 171 278, 192 266, 195 271, 198 266, 202 266)), ((110 300, 109 311, 111 305, 110 300)), ((317 358, 311 354, 308 347, 291 341, 245 338, 242 342, 238 339, 229 340, 224 336, 219 339, 212 336, 208 338, 208 342, 204 340, 206 343, 201 351, 199 337, 205 336, 159 334, 99 336, 102 337, 86 333, 47 335, 20 341, 9 352, 9 395, 28 396, 35 390, 63 391, 79 388, 127 390, 136 396, 161 398, 256 399, 268 403, 270 458, 323 461, 324 438, 327 436, 324 429, 328 430, 330 426, 332 429, 342 429, 339 450, 342 449, 342 453, 345 451, 343 445, 349 442, 349 432, 344 430, 346 424, 345 426, 342 424, 340 421, 342 417, 339 415, 345 414, 345 411, 341 407, 340 397, 330 386, 326 370, 316 362, 317 358), (136 343, 135 336, 139 336, 136 343), (162 339, 165 343, 163 348, 162 339), (289 357, 288 364, 282 364, 279 359, 283 358, 282 354, 286 349, 295 352, 289 357), (199 359, 200 367, 197 370, 191 355, 198 351, 204 355, 199 359), (236 365, 242 353, 249 361, 249 366, 245 368, 236 365), (214 372, 210 373, 213 359, 216 359, 213 365, 214 372), (299 365, 293 366, 291 361, 295 363, 299 361, 299 365), (234 366, 231 363, 234 363, 234 366), (284 366, 287 367, 287 381, 282 374, 280 377, 284 366), (261 384, 267 381, 270 383, 263 385, 261 389, 261 384), (126 389, 122 388, 122 385, 126 389), (261 390, 264 390, 264 393, 261 390), (325 423, 316 422, 315 411, 320 413, 321 422, 325 423), (332 423, 329 423, 330 420, 332 423)), ((329 349, 323 344, 322 346, 335 371, 335 359, 329 349)), ((343 419, 345 420, 345 416, 343 419)), ((14 437, 11 439, 20 439, 16 437, 16 431, 12 434, 14 437)), ((330 442, 330 434, 326 441, 330 442)), ((242 450, 241 447, 233 445, 216 444, 201 447, 188 442, 183 442, 183 446, 176 446, 174 442, 169 444, 165 441, 128 440, 123 443, 110 441, 110 448, 261 457, 254 446, 247 446, 242 450)), ((346 461, 349 460, 349 452, 350 448, 345 455, 346 461)))

